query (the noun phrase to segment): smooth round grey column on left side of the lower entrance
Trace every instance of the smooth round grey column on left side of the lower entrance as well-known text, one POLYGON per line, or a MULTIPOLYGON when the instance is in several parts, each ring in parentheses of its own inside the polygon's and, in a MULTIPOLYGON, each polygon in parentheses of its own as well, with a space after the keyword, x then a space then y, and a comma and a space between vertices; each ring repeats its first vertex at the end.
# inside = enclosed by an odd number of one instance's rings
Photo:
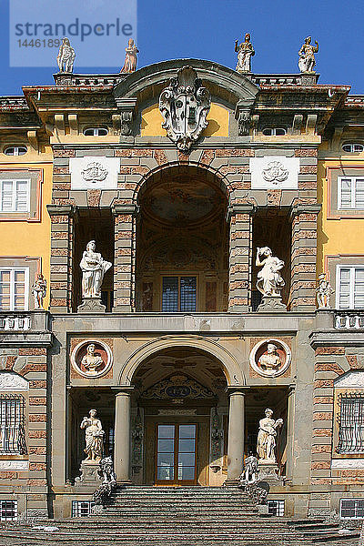
POLYGON ((130 397, 133 387, 118 389, 115 397, 114 470, 118 482, 130 481, 130 397))

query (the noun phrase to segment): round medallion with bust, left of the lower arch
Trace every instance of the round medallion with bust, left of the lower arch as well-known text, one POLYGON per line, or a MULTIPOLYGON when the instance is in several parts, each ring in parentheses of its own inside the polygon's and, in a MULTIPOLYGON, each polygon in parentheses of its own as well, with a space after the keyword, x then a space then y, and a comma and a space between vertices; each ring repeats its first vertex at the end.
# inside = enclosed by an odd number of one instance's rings
POLYGON ((71 364, 73 369, 84 378, 101 378, 111 369, 113 355, 104 341, 85 339, 73 349, 71 364))

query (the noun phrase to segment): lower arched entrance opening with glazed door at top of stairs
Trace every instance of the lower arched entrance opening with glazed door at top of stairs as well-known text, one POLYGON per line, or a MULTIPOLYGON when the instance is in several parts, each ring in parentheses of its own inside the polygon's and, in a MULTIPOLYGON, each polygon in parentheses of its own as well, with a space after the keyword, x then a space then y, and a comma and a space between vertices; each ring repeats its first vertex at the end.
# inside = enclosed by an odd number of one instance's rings
POLYGON ((221 485, 227 477, 227 379, 202 349, 172 347, 132 378, 132 480, 221 485))

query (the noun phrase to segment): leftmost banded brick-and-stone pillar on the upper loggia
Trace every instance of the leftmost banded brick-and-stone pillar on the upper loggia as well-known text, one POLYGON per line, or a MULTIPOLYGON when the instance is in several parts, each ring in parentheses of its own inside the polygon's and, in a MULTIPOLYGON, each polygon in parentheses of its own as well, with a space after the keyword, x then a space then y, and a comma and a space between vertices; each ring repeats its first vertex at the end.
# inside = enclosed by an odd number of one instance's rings
POLYGON ((74 218, 72 205, 47 205, 51 217, 50 311, 72 312, 74 218))

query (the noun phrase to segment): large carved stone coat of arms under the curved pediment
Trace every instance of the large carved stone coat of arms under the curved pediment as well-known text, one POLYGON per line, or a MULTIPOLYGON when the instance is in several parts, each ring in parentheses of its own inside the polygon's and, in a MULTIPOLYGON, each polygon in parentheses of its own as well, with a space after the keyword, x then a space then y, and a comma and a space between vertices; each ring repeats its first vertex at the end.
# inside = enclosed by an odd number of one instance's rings
POLYGON ((197 72, 183 66, 159 96, 159 110, 164 117, 162 127, 169 138, 183 152, 189 151, 207 127, 206 116, 211 106, 211 96, 202 86, 197 72))

